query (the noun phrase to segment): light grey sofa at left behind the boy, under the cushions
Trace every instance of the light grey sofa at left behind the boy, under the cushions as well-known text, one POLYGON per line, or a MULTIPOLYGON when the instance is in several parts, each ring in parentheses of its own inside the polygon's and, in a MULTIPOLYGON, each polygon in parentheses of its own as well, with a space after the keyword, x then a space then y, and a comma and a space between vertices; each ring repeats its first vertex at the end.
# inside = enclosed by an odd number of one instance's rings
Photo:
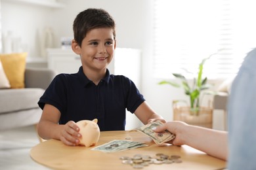
POLYGON ((50 69, 26 68, 25 88, 0 89, 0 131, 39 122, 42 110, 37 102, 54 76, 50 69))

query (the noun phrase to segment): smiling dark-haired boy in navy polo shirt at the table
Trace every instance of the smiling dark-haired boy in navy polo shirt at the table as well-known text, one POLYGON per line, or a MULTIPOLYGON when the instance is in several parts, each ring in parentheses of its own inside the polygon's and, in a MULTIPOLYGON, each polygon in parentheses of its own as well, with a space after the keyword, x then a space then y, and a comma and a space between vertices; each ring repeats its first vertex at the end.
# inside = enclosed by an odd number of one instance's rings
POLYGON ((79 120, 98 119, 100 131, 124 130, 125 109, 134 112, 143 124, 161 120, 135 84, 125 76, 110 75, 106 67, 116 48, 113 18, 102 9, 87 9, 74 20, 72 50, 81 58, 78 73, 57 75, 43 96, 37 126, 43 139, 79 144, 79 120))

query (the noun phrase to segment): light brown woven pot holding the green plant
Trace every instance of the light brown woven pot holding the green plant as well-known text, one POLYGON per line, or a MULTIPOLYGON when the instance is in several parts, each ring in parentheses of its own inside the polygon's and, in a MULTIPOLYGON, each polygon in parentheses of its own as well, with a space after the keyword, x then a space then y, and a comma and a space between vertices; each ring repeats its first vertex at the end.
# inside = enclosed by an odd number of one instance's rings
POLYGON ((175 105, 173 106, 173 120, 179 120, 194 126, 212 128, 213 109, 200 107, 199 110, 193 111, 190 107, 175 105))

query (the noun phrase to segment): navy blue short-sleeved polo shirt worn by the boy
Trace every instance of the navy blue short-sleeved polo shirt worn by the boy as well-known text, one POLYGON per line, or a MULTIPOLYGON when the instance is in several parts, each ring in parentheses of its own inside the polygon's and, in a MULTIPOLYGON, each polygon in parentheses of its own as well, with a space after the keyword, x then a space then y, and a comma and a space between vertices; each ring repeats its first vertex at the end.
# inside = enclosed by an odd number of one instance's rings
POLYGON ((59 124, 97 118, 100 131, 110 131, 124 130, 125 109, 133 113, 144 101, 129 78, 110 75, 107 69, 96 86, 80 67, 78 73, 55 76, 38 105, 43 109, 47 103, 60 110, 59 124))

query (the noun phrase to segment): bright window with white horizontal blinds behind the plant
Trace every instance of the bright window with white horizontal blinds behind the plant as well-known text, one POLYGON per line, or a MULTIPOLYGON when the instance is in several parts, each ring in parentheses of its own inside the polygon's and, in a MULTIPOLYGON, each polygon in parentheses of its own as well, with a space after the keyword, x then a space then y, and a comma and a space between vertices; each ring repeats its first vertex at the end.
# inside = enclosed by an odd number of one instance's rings
POLYGON ((196 74, 200 61, 216 52, 203 73, 236 75, 256 47, 255 5, 254 0, 154 0, 154 76, 196 74))

